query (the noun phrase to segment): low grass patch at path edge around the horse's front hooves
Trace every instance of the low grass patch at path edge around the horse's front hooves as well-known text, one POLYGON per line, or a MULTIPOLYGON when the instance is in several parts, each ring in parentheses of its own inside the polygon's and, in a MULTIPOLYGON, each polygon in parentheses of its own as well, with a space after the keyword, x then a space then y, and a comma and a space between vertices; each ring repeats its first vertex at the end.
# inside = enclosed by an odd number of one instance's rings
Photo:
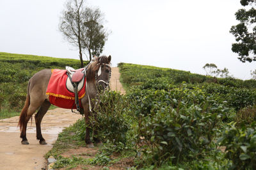
POLYGON ((63 167, 65 167, 65 169, 75 167, 80 169, 92 169, 93 167, 109 169, 109 167, 118 167, 127 159, 131 160, 131 157, 134 157, 131 151, 119 155, 109 155, 109 153, 104 152, 105 148, 109 148, 106 144, 93 148, 96 152, 90 153, 92 149, 85 148, 86 144, 81 138, 81 134, 79 134, 81 124, 84 124, 82 119, 78 120, 76 124, 64 129, 63 132, 59 134, 52 150, 45 154, 45 158, 53 156, 57 160, 56 163, 54 163, 54 169, 63 167), (79 152, 79 150, 77 150, 78 148, 83 148, 83 152, 79 152), (68 150, 75 150, 76 154, 67 156, 68 150))

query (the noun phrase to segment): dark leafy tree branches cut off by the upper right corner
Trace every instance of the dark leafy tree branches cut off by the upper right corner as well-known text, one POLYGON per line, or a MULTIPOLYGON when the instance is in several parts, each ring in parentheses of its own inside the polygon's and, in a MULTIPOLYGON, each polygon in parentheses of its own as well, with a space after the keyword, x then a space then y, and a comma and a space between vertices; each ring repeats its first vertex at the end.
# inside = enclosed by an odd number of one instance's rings
POLYGON ((241 62, 256 60, 256 10, 255 0, 241 0, 243 6, 252 6, 250 10, 240 9, 236 12, 236 20, 240 23, 230 29, 237 43, 232 44, 232 51, 238 53, 241 62))

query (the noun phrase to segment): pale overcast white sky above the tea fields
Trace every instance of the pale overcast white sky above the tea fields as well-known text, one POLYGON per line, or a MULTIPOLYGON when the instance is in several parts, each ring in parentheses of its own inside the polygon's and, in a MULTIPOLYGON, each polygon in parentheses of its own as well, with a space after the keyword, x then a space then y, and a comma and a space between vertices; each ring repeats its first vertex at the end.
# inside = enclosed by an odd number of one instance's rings
MULTIPOLYGON (((79 59, 58 30, 66 0, 0 0, 0 52, 79 59)), ((119 62, 205 74, 214 63, 235 78, 250 79, 256 62, 231 50, 230 27, 240 0, 87 0, 100 8, 111 31, 102 55, 119 62)), ((84 60, 86 57, 84 56, 84 60)))

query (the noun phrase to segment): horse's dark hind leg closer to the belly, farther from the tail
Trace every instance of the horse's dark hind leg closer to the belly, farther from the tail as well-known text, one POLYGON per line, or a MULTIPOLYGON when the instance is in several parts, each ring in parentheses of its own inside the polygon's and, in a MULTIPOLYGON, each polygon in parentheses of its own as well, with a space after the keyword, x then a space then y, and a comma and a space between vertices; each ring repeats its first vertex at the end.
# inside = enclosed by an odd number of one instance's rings
POLYGON ((49 101, 45 100, 44 103, 41 105, 40 109, 37 111, 35 115, 35 121, 36 121, 36 139, 39 140, 39 143, 41 145, 46 145, 47 143, 45 142, 45 139, 42 136, 41 132, 41 122, 42 118, 44 117, 45 113, 51 106, 51 103, 49 101))

